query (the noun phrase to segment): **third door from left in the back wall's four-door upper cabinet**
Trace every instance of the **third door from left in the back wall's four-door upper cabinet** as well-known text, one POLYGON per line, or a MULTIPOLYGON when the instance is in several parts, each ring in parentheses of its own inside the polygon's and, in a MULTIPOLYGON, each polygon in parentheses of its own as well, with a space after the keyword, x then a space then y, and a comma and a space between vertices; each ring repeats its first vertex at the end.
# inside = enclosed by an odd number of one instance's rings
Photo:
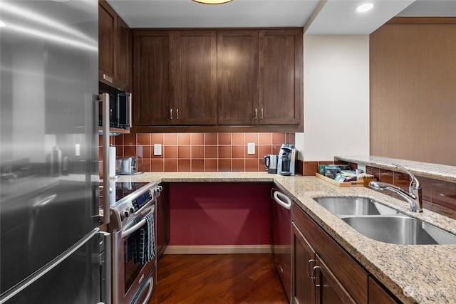
POLYGON ((258 31, 218 31, 217 124, 258 123, 258 92, 258 31))

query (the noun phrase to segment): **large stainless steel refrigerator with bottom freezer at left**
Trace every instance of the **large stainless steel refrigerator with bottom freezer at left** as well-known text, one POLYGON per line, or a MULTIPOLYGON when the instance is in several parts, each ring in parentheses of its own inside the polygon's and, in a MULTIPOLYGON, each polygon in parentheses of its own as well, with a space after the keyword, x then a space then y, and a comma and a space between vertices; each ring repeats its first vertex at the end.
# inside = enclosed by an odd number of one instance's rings
POLYGON ((109 303, 98 1, 0 1, 0 303, 109 303))

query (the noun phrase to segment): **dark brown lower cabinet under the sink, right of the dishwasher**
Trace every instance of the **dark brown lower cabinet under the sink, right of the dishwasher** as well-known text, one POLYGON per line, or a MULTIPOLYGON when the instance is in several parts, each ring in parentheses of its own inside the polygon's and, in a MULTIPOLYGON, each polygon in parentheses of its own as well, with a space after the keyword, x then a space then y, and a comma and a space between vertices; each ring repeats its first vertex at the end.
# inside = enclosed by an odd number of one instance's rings
POLYGON ((400 303, 296 204, 291 219, 292 303, 400 303))

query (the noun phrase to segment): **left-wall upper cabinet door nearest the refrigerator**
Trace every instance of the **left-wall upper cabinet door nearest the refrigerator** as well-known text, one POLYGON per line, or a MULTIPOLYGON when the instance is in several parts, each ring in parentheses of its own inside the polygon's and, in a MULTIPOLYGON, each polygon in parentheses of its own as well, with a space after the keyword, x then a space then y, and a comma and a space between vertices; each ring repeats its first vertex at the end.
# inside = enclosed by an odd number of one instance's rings
POLYGON ((117 24, 116 18, 117 14, 105 1, 98 2, 98 70, 101 74, 99 75, 100 80, 104 76, 104 78, 108 78, 108 83, 113 82, 115 75, 114 29, 117 24))

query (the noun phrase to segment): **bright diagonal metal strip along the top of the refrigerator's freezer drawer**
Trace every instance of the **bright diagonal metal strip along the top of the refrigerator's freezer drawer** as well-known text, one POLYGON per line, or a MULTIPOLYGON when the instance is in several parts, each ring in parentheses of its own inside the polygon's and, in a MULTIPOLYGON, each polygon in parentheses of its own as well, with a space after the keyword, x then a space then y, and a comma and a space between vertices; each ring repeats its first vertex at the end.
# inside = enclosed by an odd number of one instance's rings
POLYGON ((33 275, 29 276, 28 278, 26 278, 26 280, 21 283, 20 285, 18 285, 16 288, 12 288, 8 293, 6 293, 4 295, 4 297, 1 298, 0 300, 0 304, 3 304, 5 303, 7 300, 9 300, 10 298, 13 298, 14 295, 17 295, 18 293, 20 293, 22 290, 26 289, 29 285, 31 285, 33 282, 35 282, 36 280, 38 280, 39 278, 41 278, 42 276, 44 276, 46 273, 48 273, 49 271, 51 271, 53 268, 55 268, 56 266, 58 266, 60 263, 62 263, 63 261, 66 260, 66 258, 68 258, 69 256, 71 256, 73 253, 75 253, 79 248, 81 248, 83 245, 85 245, 90 239, 92 239, 93 236, 95 236, 95 234, 98 234, 98 231, 100 231, 100 229, 97 227, 95 229, 93 229, 92 231, 90 231, 89 234, 87 234, 83 239, 81 239, 80 241, 78 241, 78 243, 75 243, 73 246, 71 246, 70 248, 68 248, 66 251, 63 251, 63 253, 61 253, 61 255, 57 256, 56 258, 54 258, 52 261, 50 261, 49 263, 46 264, 46 266, 44 266, 43 268, 41 268, 40 270, 36 271, 36 273, 33 273, 33 275))

